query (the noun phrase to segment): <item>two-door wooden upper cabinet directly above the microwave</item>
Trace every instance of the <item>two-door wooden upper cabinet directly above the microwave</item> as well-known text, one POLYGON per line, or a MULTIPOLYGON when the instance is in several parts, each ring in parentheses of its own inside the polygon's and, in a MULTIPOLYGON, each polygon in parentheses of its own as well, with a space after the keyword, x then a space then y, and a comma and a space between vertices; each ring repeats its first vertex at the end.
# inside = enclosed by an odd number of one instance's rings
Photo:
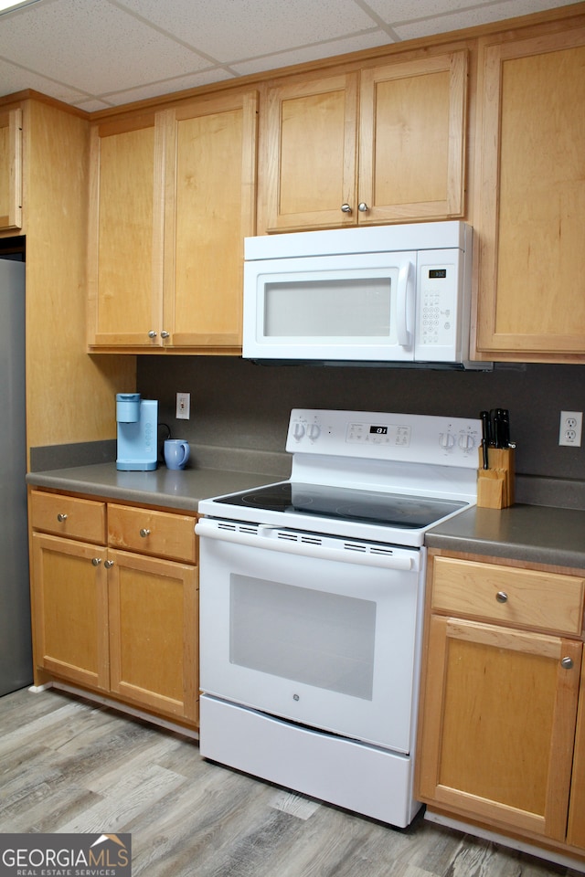
POLYGON ((272 88, 266 230, 463 216, 466 93, 465 50, 272 88))

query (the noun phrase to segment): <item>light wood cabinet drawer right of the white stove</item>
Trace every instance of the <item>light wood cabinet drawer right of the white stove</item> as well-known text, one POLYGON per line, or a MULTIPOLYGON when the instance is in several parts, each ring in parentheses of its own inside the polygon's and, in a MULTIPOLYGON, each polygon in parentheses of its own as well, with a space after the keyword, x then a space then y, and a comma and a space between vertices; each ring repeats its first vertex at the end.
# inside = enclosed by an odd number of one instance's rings
POLYGON ((580 635, 585 578, 435 557, 431 608, 580 635))

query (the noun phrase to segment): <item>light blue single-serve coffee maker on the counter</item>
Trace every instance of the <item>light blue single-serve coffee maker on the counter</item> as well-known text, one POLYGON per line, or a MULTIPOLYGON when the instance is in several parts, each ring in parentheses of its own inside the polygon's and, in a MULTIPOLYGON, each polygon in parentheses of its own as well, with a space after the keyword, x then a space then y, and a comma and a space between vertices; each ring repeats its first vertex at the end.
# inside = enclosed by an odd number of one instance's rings
POLYGON ((116 420, 116 469, 126 472, 156 469, 158 402, 141 399, 140 393, 118 393, 116 420))

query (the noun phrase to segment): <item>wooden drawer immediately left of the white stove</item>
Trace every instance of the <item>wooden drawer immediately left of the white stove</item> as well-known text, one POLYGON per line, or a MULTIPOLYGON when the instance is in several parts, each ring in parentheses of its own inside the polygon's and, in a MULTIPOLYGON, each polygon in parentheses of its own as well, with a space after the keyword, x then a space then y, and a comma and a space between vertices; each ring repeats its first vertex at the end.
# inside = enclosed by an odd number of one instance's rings
POLYGON ((195 515, 108 506, 108 544, 144 555, 197 563, 195 515))

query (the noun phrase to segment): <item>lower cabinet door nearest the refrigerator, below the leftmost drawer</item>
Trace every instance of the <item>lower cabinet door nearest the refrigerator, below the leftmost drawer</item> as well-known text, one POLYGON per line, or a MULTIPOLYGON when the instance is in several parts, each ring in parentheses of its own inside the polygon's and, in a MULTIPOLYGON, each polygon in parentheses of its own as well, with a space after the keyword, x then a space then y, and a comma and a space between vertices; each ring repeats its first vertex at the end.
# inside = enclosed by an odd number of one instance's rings
POLYGON ((96 545, 32 535, 35 662, 103 690, 109 687, 105 556, 96 545))

